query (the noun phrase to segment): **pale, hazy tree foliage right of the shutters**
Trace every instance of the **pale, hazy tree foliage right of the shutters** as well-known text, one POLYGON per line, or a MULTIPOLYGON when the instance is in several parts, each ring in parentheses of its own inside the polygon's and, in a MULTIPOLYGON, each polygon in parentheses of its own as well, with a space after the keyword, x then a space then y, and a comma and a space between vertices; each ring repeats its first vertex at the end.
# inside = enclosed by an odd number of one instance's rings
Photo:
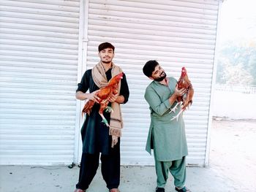
POLYGON ((217 83, 256 85, 256 47, 253 43, 225 42, 219 50, 217 83))

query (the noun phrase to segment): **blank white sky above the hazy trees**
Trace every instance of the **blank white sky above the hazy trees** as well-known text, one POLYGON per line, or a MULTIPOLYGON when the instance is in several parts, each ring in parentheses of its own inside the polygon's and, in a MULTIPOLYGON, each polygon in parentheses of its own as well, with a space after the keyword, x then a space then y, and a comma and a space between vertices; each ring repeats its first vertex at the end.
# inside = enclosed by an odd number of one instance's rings
POLYGON ((225 0, 220 15, 219 38, 255 39, 256 41, 256 0, 225 0))

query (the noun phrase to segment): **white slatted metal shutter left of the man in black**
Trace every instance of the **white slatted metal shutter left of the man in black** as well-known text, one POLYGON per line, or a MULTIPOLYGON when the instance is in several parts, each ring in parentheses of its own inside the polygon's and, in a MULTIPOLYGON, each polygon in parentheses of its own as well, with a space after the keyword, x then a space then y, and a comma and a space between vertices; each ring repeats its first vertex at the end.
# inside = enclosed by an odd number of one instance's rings
POLYGON ((80 1, 0 6, 0 164, 70 164, 80 1))

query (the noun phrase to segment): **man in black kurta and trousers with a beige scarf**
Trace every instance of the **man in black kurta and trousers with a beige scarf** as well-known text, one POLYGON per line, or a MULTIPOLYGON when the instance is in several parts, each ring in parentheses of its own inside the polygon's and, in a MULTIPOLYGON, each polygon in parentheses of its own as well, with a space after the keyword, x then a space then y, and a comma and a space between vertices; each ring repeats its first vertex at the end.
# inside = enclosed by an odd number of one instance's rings
MULTIPOLYGON (((102 70, 104 73, 103 76, 109 81, 114 75, 113 72, 121 70, 120 67, 114 65, 112 62, 115 47, 105 42, 99 45, 98 50, 101 61, 95 67, 102 70)), ((82 80, 78 83, 77 99, 91 99, 97 102, 97 90, 99 90, 99 86, 94 81, 94 69, 89 69, 83 74, 82 80), (86 93, 88 90, 89 93, 86 93)), ((110 103, 108 106, 111 107, 113 102, 125 104, 128 98, 129 88, 124 74, 123 79, 121 79, 119 94, 109 99, 110 103)), ((104 112, 103 115, 110 124, 110 113, 104 112)), ((83 154, 80 163, 79 181, 76 185, 75 192, 82 192, 89 188, 91 180, 93 180, 99 166, 100 153, 102 177, 107 184, 107 188, 110 192, 118 192, 118 185, 120 183, 120 138, 118 137, 118 142, 113 145, 113 136, 110 135, 109 129, 102 122, 102 117, 99 115, 99 104, 95 103, 90 115, 86 114, 86 120, 81 128, 83 154), (111 147, 111 145, 113 146, 111 147)))

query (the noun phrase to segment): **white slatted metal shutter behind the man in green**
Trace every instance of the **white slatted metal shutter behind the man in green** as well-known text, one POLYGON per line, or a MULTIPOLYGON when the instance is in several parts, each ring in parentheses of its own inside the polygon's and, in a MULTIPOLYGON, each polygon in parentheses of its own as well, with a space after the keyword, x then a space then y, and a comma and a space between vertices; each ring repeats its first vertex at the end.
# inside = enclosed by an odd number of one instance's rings
POLYGON ((177 79, 181 66, 187 67, 195 88, 192 107, 184 114, 187 164, 205 164, 218 8, 214 0, 89 0, 87 67, 99 61, 99 43, 111 42, 113 61, 129 83, 129 101, 122 106, 121 164, 154 164, 145 151, 150 116, 144 92, 151 81, 142 72, 152 59, 177 79))

